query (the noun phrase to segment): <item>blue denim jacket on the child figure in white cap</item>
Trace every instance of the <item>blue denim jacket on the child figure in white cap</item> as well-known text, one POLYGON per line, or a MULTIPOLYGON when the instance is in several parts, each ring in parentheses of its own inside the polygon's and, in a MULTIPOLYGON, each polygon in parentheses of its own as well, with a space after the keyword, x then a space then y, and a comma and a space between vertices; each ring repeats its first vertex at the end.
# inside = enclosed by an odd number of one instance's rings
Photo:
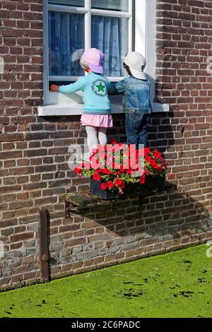
POLYGON ((150 83, 134 76, 124 78, 117 83, 111 83, 109 95, 123 94, 124 113, 146 114, 151 112, 150 83))

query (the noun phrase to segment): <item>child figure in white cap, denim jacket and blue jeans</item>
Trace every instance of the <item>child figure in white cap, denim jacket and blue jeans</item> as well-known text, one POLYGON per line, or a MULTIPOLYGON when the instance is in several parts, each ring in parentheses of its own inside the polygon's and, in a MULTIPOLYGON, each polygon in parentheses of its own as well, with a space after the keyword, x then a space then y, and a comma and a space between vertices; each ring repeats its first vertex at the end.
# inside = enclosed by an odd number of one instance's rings
POLYGON ((129 77, 118 83, 111 83, 108 93, 124 93, 123 105, 128 144, 146 146, 147 129, 151 122, 150 83, 146 80, 143 69, 146 60, 138 52, 129 52, 124 58, 124 69, 129 77))

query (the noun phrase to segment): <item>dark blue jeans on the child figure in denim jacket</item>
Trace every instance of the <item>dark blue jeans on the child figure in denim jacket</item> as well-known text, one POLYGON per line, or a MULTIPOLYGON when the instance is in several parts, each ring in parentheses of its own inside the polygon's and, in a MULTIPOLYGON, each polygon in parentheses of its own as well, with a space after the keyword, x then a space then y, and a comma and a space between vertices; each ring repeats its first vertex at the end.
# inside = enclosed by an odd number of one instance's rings
POLYGON ((126 113, 125 126, 127 144, 135 144, 136 148, 139 148, 139 144, 146 146, 147 129, 150 123, 150 114, 126 113))

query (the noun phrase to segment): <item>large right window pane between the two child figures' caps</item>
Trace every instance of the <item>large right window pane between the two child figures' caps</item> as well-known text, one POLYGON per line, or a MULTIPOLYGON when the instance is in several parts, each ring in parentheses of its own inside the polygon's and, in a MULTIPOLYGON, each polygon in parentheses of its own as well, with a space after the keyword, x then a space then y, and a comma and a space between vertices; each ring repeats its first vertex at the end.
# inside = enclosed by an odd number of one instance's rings
POLYGON ((105 75, 122 77, 122 57, 128 52, 128 19, 92 17, 92 47, 105 54, 105 75))

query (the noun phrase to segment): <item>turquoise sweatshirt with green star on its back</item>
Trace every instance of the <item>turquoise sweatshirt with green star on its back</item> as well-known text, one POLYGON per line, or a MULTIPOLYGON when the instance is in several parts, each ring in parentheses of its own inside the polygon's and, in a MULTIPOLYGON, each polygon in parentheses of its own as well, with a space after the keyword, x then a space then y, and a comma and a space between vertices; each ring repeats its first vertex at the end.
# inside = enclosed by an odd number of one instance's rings
POLYGON ((75 93, 83 91, 84 113, 111 114, 107 88, 110 81, 107 77, 90 72, 73 84, 59 86, 59 93, 75 93))

